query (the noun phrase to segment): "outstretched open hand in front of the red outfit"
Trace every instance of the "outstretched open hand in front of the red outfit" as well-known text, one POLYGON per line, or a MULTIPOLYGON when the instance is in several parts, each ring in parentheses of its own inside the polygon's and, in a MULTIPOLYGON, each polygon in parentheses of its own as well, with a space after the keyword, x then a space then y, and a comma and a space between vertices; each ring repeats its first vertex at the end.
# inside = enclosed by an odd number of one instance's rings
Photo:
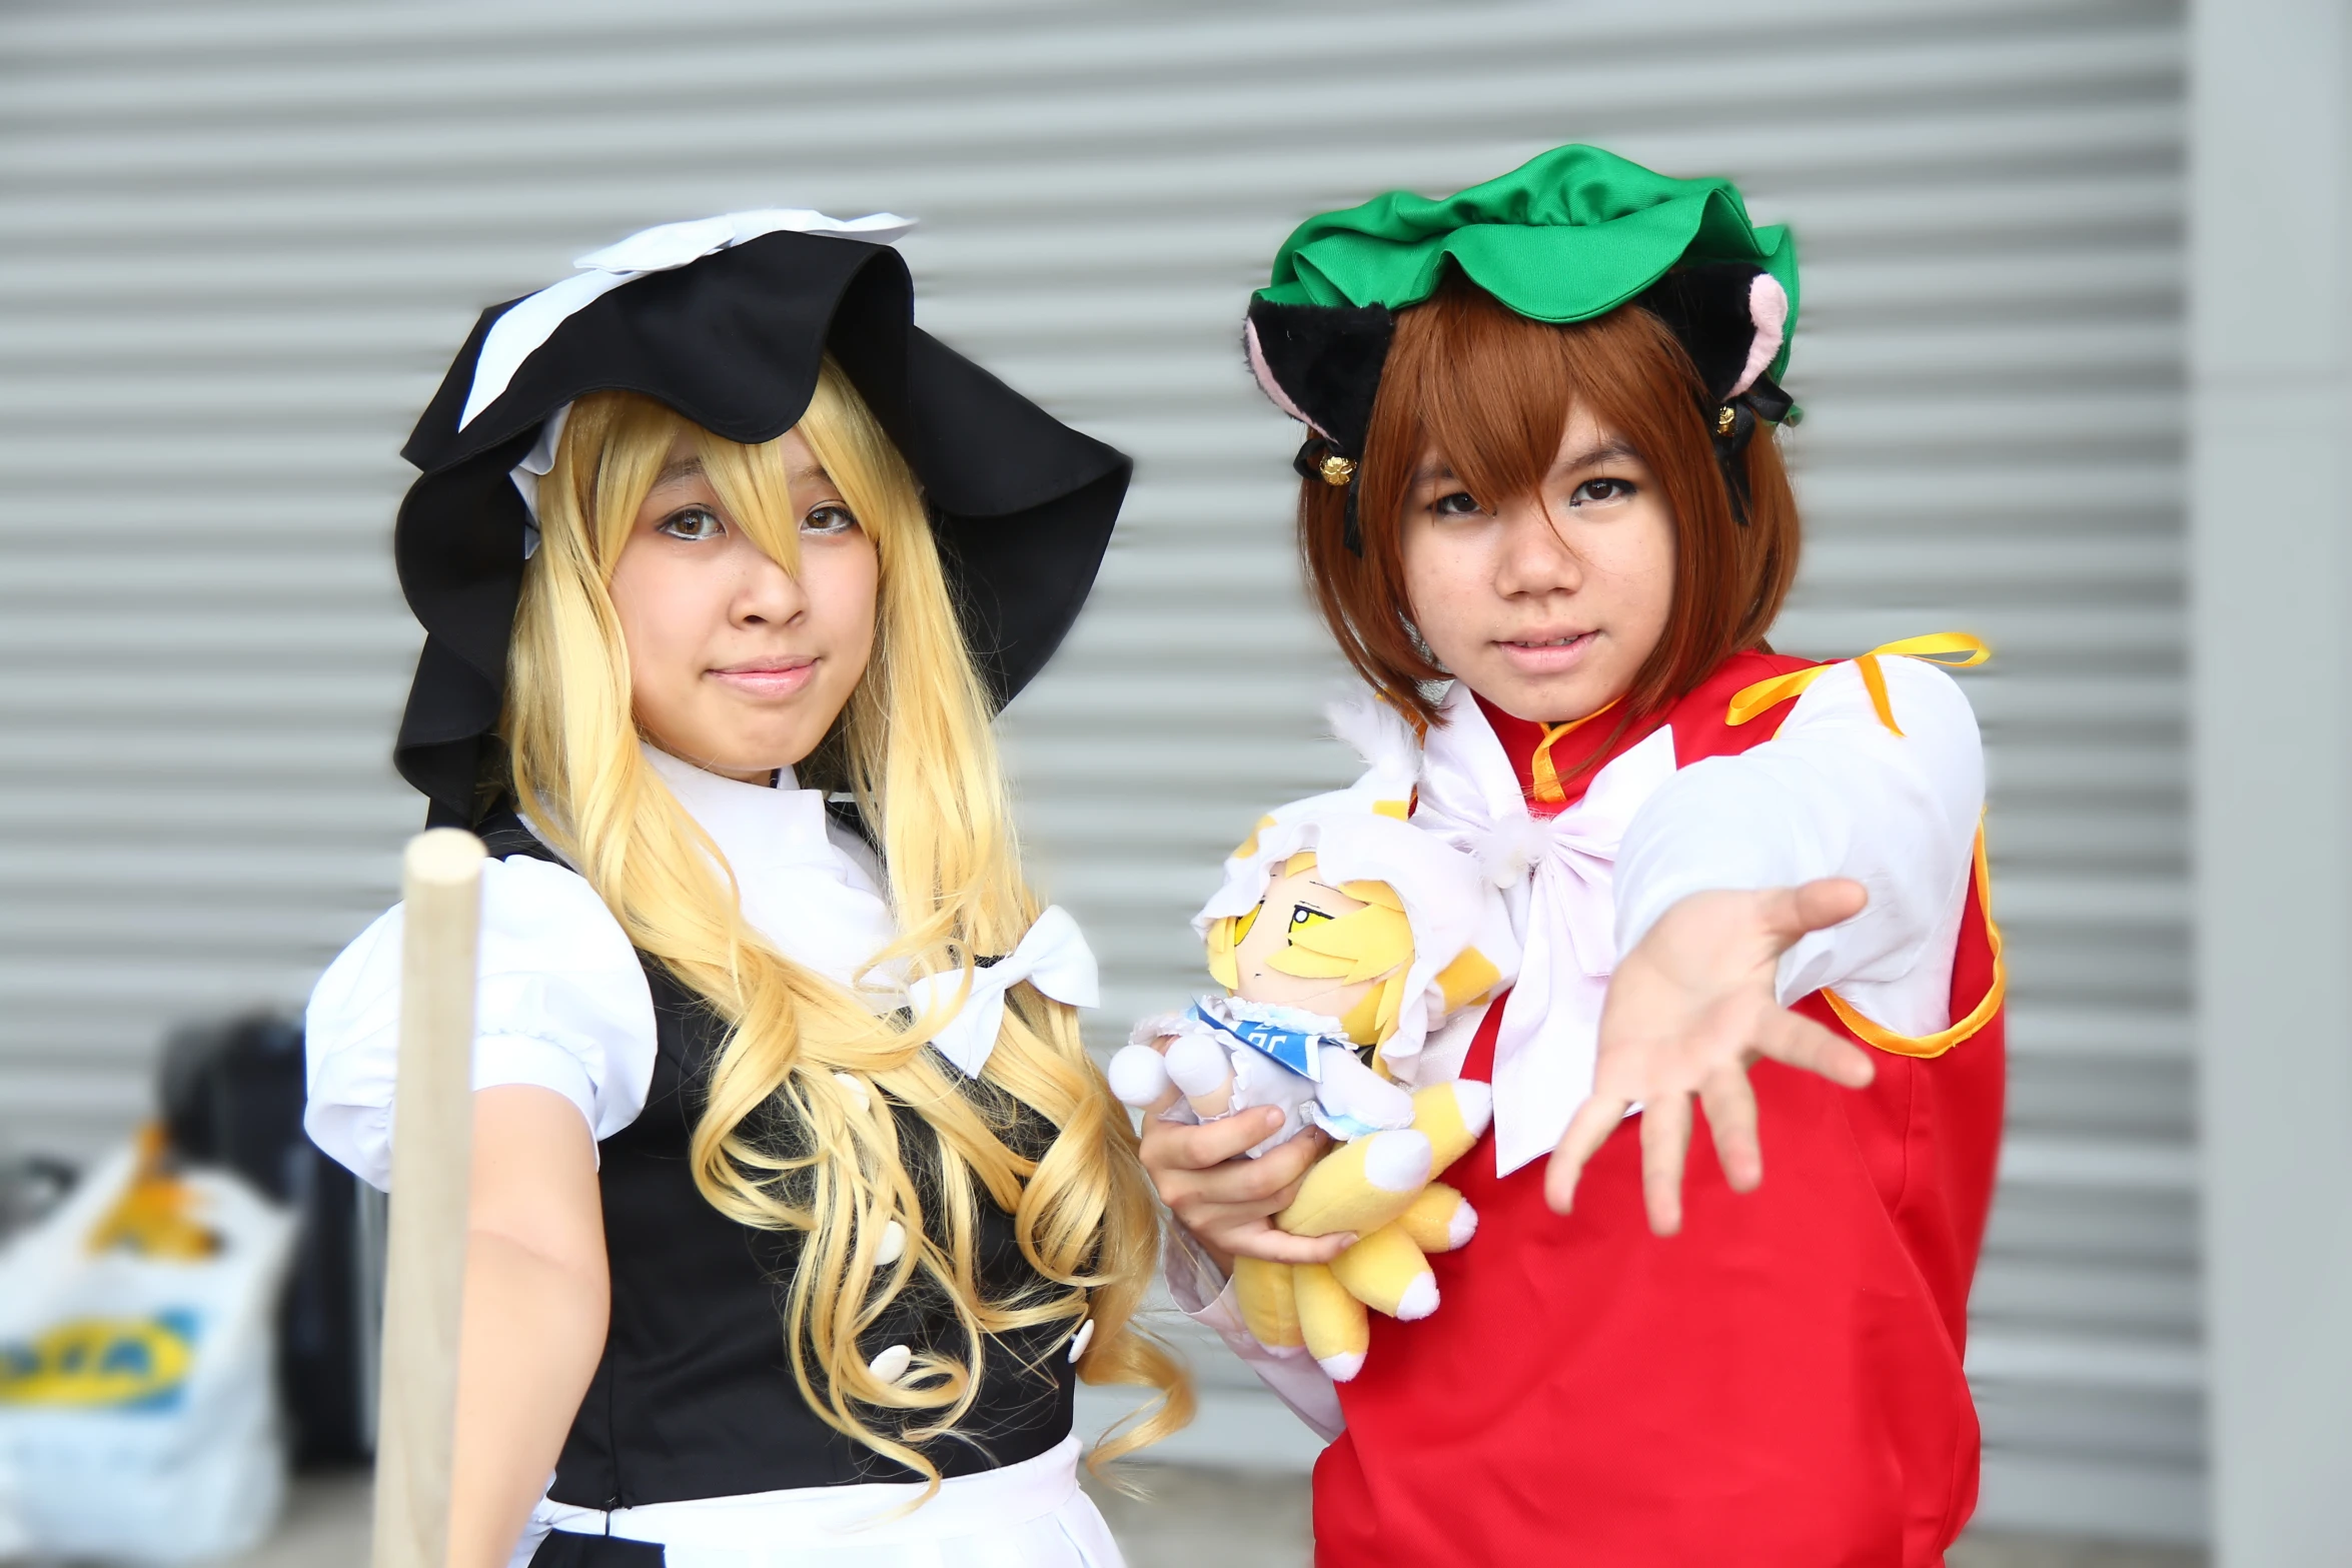
POLYGON ((1691 1095, 1708 1112, 1724 1180, 1752 1192, 1764 1180, 1752 1060, 1769 1056, 1846 1088, 1865 1086, 1870 1053, 1790 1013, 1773 992, 1780 954, 1809 931, 1853 919, 1865 900, 1863 884, 1832 877, 1762 893, 1693 893, 1668 910, 1609 980, 1592 1098, 1552 1152, 1545 1201, 1569 1213, 1585 1161, 1639 1105, 1649 1227, 1670 1237, 1682 1229, 1691 1095))

